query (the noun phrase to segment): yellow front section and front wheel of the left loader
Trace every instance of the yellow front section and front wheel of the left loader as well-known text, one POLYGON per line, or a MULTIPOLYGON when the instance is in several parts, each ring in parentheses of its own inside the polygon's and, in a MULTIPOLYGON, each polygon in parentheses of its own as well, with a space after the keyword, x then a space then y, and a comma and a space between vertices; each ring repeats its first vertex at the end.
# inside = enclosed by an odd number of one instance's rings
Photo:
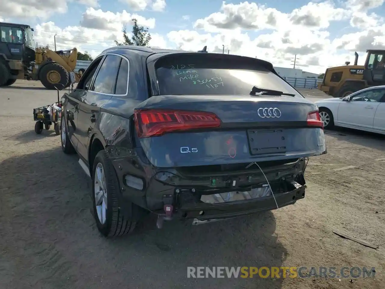
POLYGON ((77 49, 53 51, 37 47, 35 50, 35 65, 32 68, 32 80, 40 80, 47 89, 63 89, 71 84, 70 74, 75 82, 82 76, 75 72, 77 49))

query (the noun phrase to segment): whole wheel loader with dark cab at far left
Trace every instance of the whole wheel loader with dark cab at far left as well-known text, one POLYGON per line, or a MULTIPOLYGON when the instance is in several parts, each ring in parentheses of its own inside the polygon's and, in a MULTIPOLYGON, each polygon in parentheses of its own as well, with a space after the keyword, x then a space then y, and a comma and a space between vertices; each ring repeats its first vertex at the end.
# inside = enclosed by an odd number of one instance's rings
POLYGON ((28 79, 42 82, 47 89, 61 90, 78 82, 82 74, 74 71, 77 49, 38 47, 32 31, 29 25, 0 22, 0 86, 28 79))

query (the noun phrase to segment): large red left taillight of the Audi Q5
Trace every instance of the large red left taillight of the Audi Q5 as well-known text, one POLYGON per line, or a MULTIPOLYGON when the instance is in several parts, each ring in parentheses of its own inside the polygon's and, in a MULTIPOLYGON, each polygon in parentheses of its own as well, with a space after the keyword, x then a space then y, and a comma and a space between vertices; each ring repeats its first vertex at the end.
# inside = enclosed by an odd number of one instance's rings
POLYGON ((135 109, 134 121, 139 138, 201 128, 218 128, 221 120, 214 113, 170 109, 135 109))

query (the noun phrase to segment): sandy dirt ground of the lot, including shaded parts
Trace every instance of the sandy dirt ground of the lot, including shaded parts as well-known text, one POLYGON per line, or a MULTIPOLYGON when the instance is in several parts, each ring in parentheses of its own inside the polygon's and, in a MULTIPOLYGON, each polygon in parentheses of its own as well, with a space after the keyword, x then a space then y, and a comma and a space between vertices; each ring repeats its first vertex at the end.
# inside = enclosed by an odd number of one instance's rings
POLYGON ((33 131, 32 109, 56 97, 32 81, 0 88, 0 289, 384 288, 385 137, 326 132, 328 153, 310 158, 306 197, 295 205, 162 230, 150 216, 134 235, 105 239, 76 156, 62 153, 53 129, 33 131), (191 279, 187 266, 366 266, 375 278, 191 279))

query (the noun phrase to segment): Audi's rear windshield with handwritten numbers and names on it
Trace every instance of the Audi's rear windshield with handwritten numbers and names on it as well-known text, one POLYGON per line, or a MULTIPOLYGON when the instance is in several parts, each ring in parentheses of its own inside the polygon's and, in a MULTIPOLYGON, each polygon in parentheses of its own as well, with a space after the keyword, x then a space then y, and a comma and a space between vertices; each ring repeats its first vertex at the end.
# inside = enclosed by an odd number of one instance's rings
POLYGON ((280 77, 247 58, 169 55, 159 59, 155 68, 161 95, 248 95, 257 86, 300 96, 280 77))

